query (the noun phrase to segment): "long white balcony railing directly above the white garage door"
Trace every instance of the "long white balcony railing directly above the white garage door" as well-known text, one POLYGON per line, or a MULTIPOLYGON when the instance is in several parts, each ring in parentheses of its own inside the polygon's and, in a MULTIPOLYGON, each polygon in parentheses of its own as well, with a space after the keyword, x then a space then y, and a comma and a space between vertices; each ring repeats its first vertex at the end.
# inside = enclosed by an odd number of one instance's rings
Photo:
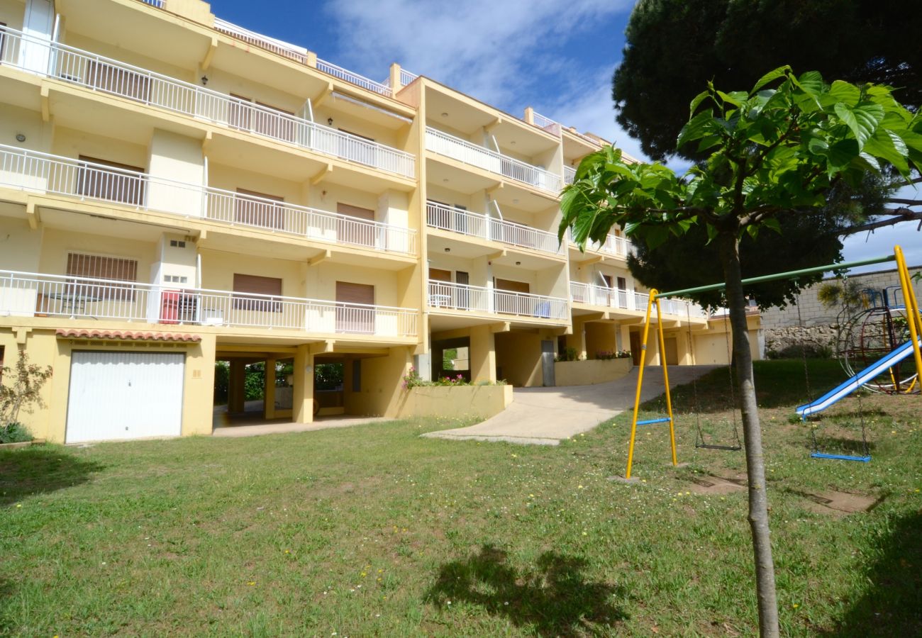
POLYGON ((407 308, 0 270, 0 315, 415 337, 407 308))

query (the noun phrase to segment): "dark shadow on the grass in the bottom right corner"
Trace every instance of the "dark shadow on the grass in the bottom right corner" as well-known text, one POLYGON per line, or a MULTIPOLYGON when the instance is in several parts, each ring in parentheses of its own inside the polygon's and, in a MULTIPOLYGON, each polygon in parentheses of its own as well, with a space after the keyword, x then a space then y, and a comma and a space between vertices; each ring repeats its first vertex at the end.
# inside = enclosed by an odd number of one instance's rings
POLYGON ((827 635, 922 635, 922 512, 894 522, 868 569, 868 588, 827 635))

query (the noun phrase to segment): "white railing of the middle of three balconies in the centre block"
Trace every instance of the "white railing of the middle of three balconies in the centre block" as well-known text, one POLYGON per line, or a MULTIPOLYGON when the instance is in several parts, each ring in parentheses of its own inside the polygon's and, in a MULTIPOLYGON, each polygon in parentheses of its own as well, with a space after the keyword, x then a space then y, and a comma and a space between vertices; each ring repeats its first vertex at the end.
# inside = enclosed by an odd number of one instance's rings
POLYGON ((468 237, 502 242, 541 253, 561 254, 562 252, 561 243, 557 235, 552 232, 536 230, 479 213, 471 213, 462 208, 445 206, 438 202, 426 202, 426 224, 430 228, 450 230, 468 237))

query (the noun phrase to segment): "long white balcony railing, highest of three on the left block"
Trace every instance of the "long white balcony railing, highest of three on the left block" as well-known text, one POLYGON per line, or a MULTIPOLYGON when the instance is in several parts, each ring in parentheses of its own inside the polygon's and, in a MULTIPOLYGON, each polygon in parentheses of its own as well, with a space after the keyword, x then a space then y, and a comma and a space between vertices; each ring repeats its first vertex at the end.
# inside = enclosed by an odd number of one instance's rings
POLYGON ((412 154, 287 112, 0 27, 0 63, 412 178, 412 154))

